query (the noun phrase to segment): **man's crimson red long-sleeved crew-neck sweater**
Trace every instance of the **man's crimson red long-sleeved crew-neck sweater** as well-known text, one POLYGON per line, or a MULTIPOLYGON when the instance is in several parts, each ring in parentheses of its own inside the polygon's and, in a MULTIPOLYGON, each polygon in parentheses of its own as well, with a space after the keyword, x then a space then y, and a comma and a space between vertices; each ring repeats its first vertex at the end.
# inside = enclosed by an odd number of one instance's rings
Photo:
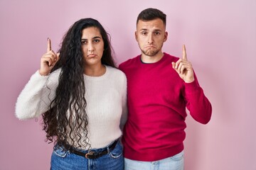
POLYGON ((164 53, 145 64, 141 55, 119 65, 127 76, 128 120, 122 142, 124 157, 153 162, 183 150, 186 107, 199 123, 210 120, 212 108, 195 81, 185 83, 172 68, 177 57, 164 53))

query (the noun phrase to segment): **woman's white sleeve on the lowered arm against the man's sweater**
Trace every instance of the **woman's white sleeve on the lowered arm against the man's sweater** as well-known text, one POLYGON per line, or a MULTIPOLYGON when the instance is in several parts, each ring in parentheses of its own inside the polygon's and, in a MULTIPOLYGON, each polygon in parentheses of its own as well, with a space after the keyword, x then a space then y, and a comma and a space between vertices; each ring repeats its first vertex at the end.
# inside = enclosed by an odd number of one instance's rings
POLYGON ((124 124, 127 122, 127 77, 124 75, 124 84, 122 89, 122 116, 120 120, 120 129, 123 130, 124 124))

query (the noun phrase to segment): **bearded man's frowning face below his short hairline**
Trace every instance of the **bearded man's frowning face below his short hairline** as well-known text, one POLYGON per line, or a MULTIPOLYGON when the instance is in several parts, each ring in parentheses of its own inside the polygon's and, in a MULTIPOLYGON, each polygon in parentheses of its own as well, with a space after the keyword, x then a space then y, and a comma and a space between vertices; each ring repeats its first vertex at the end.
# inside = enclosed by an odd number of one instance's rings
POLYGON ((161 47, 167 40, 164 22, 156 18, 151 21, 139 20, 135 38, 142 50, 142 55, 154 57, 161 53, 161 47))

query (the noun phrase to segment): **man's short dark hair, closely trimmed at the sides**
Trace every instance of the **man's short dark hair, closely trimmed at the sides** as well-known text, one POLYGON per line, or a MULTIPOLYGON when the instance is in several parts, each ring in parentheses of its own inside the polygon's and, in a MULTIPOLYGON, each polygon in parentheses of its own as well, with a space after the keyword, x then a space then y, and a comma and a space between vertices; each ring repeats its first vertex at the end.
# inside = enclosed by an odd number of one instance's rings
POLYGON ((139 13, 139 16, 137 17, 137 23, 139 22, 139 20, 151 21, 156 18, 160 18, 161 21, 164 22, 164 26, 166 26, 166 14, 157 8, 144 9, 141 13, 139 13))

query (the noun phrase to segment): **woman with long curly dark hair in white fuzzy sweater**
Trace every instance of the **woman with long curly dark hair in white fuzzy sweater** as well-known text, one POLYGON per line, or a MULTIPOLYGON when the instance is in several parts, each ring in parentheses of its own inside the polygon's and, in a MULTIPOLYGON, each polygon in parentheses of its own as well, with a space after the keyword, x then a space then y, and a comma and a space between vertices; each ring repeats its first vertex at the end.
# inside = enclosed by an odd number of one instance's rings
POLYGON ((127 117, 127 79, 116 69, 108 34, 95 19, 70 27, 59 52, 48 38, 40 69, 16 103, 21 120, 43 116, 55 142, 51 169, 123 169, 119 137, 127 117))

